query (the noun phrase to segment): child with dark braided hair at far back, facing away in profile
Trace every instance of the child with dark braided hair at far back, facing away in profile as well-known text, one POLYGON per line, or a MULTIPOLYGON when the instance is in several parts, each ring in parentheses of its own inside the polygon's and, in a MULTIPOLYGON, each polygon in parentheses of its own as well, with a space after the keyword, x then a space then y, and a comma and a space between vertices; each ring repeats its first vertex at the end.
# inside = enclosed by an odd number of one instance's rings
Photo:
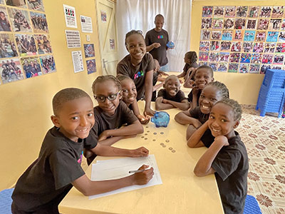
POLYGON ((195 51, 188 51, 184 56, 185 66, 183 68, 183 72, 177 75, 177 77, 184 77, 186 81, 187 78, 190 77, 192 71, 199 67, 197 64, 197 58, 198 57, 195 51))

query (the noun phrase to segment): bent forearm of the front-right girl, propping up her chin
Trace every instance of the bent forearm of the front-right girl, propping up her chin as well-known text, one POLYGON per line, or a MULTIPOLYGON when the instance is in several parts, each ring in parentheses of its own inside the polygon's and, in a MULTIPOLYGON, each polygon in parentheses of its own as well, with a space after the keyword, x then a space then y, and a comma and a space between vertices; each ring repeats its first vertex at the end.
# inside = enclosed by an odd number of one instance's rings
POLYGON ((212 145, 197 162, 194 169, 195 175, 202 177, 215 172, 215 170, 212 168, 212 163, 214 161, 214 158, 216 158, 217 153, 219 153, 223 146, 229 146, 227 137, 217 136, 214 138, 214 143, 212 143, 212 145))

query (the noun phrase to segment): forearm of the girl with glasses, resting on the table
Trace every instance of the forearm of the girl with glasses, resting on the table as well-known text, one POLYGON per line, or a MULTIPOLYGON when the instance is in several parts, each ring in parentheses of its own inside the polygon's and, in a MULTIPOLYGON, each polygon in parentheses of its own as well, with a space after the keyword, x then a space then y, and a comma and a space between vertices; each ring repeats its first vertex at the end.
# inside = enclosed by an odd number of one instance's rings
POLYGON ((100 143, 103 145, 110 146, 113 143, 109 144, 108 141, 106 141, 106 140, 108 140, 108 137, 115 137, 115 136, 126 137, 126 136, 133 136, 133 135, 136 135, 138 133, 143 133, 143 127, 142 127, 142 124, 140 124, 140 121, 137 120, 137 121, 134 121, 132 124, 130 124, 128 126, 124 126, 122 128, 109 129, 109 130, 103 131, 103 133, 100 133, 98 141, 100 141, 100 143))

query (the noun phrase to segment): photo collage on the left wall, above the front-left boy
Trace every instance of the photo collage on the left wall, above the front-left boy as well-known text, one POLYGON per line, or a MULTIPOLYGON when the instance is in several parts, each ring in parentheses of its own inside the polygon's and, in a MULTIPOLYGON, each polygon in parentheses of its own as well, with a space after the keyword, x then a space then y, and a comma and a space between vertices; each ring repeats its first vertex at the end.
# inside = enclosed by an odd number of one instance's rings
POLYGON ((56 71, 43 0, 0 0, 1 84, 56 71))

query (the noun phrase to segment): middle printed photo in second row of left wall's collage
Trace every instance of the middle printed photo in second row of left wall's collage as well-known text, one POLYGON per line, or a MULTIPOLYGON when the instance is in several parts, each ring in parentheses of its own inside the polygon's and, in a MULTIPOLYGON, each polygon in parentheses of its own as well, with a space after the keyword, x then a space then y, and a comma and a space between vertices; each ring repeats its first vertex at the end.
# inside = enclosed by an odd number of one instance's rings
POLYGON ((31 32, 31 23, 28 18, 28 11, 21 9, 8 8, 10 23, 14 32, 31 32))

